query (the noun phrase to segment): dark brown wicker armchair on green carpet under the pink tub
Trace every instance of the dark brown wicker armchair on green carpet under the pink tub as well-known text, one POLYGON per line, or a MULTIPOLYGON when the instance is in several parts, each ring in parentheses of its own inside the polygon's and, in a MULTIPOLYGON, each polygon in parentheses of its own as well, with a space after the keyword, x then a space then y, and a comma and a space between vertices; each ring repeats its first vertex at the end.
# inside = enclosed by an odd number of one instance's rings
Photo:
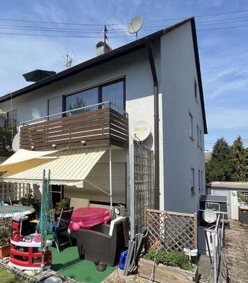
POLYGON ((119 255, 126 249, 124 221, 126 218, 115 223, 112 236, 109 235, 110 225, 78 230, 76 240, 79 257, 94 261, 99 271, 104 271, 106 266, 117 265, 119 255))

